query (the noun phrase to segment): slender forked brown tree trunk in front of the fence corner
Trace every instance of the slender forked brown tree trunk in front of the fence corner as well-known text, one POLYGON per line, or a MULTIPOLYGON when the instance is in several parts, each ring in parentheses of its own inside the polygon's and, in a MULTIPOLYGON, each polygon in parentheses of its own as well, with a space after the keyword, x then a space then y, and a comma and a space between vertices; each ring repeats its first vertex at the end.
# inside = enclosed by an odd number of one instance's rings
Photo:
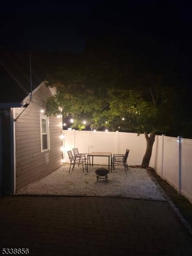
POLYGON ((147 141, 147 148, 145 151, 145 155, 143 157, 141 168, 147 168, 149 166, 149 161, 151 159, 151 153, 152 153, 156 133, 155 131, 153 131, 150 133, 150 136, 148 136, 147 132, 144 132, 144 134, 145 134, 145 139, 147 141))

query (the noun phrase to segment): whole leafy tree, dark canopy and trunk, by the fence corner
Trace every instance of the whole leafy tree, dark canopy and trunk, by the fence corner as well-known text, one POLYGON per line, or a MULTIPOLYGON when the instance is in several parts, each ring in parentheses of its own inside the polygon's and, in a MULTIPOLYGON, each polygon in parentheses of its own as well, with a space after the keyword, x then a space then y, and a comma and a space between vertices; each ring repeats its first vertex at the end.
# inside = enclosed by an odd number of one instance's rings
POLYGON ((170 61, 167 70, 160 51, 162 60, 156 63, 153 54, 157 49, 146 60, 141 53, 139 57, 130 53, 128 41, 120 44, 117 52, 114 44, 109 51, 89 49, 80 62, 58 70, 52 81, 57 94, 47 101, 47 115, 70 114, 76 119, 73 127, 79 129, 85 128, 82 120, 86 118, 91 128, 115 131, 120 127, 121 131, 144 133, 147 146, 141 166, 146 168, 155 135, 168 131, 174 122, 177 87, 169 79, 174 68, 170 61))

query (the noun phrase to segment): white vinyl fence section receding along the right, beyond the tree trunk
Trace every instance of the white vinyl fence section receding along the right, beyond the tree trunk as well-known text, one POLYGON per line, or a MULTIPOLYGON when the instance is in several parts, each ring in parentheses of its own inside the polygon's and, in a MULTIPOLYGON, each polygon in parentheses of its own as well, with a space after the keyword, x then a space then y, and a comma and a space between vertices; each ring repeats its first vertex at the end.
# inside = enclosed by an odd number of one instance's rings
POLYGON ((192 202, 192 140, 156 136, 150 166, 192 202))

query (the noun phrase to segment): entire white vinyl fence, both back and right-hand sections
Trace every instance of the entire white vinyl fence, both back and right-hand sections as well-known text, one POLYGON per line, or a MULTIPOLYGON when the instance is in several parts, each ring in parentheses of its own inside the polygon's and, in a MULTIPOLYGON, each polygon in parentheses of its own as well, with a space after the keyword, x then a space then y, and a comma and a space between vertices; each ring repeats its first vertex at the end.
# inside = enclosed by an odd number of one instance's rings
MULTIPOLYGON (((130 149, 128 165, 140 165, 146 149, 144 134, 105 131, 64 131, 64 157, 67 151, 78 148, 80 153, 92 151, 124 154, 130 149), (92 148, 93 147, 93 148, 92 148)), ((106 157, 96 157, 94 163, 107 164, 106 157)), ((192 202, 192 140, 156 136, 150 166, 178 192, 192 202)))

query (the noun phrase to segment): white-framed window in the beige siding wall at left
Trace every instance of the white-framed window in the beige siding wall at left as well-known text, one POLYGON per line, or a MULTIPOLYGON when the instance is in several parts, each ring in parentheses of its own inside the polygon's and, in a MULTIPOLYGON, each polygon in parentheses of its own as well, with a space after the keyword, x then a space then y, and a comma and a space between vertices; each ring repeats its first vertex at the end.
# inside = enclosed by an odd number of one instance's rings
POLYGON ((40 113, 40 129, 41 129, 41 152, 50 149, 49 143, 49 117, 40 113))

